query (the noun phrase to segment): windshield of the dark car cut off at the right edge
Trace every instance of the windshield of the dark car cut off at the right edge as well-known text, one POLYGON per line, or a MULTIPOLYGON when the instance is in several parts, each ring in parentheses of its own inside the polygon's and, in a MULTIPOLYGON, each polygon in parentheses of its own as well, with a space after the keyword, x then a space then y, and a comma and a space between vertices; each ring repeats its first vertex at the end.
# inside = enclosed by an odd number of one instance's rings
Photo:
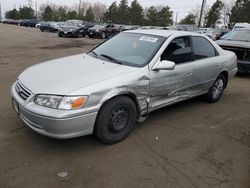
POLYGON ((249 41, 250 30, 233 30, 221 37, 223 40, 249 41))

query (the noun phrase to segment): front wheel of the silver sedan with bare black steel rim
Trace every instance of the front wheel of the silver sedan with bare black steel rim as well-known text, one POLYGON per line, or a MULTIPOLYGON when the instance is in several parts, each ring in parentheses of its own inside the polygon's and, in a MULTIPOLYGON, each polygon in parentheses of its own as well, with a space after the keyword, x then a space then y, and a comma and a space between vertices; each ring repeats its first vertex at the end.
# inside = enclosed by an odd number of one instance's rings
POLYGON ((136 105, 130 98, 113 98, 100 109, 94 134, 105 144, 118 143, 132 131, 136 117, 136 105))

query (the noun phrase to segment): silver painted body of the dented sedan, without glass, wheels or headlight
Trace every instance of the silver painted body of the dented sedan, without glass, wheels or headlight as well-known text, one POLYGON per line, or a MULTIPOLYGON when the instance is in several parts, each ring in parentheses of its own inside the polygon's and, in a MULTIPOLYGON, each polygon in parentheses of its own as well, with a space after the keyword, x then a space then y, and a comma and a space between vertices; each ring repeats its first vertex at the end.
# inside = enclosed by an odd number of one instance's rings
POLYGON ((101 106, 115 96, 133 98, 141 120, 156 109, 207 93, 220 73, 225 72, 230 79, 237 72, 235 54, 222 50, 207 37, 218 56, 179 64, 174 70, 155 71, 161 54, 174 38, 201 35, 166 30, 126 32, 159 35, 167 40, 150 63, 141 68, 110 63, 88 54, 31 66, 11 88, 13 106, 20 118, 36 132, 54 138, 88 135, 93 133, 101 106), (20 93, 25 94, 25 100, 20 93), (87 95, 88 101, 78 110, 58 110, 35 104, 36 94, 87 95))

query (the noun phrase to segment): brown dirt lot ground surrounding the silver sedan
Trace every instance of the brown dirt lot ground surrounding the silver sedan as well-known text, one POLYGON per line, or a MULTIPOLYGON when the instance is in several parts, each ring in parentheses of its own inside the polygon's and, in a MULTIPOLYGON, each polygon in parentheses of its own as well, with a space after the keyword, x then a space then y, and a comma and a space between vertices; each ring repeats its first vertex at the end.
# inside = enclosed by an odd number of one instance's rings
POLYGON ((17 76, 100 42, 0 24, 1 188, 250 187, 250 76, 234 78, 216 104, 196 98, 150 114, 116 145, 94 136, 55 140, 27 128, 11 107, 17 76))

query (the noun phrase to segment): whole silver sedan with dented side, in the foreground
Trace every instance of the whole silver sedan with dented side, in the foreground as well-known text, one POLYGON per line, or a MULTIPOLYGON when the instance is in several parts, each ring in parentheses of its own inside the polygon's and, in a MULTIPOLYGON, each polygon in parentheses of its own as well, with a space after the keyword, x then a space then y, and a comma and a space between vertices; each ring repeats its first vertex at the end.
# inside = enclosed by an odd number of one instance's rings
POLYGON ((113 144, 154 110, 201 95, 218 101, 236 72, 235 54, 205 36, 126 31, 86 54, 28 68, 11 88, 12 105, 40 134, 94 133, 113 144))

